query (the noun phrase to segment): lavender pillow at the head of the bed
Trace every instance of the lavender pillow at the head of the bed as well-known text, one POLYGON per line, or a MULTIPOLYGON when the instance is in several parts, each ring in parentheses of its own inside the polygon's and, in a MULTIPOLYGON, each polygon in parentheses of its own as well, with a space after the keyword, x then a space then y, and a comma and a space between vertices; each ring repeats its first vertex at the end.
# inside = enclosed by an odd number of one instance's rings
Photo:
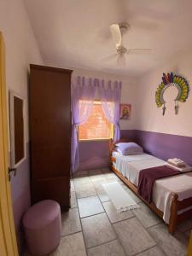
POLYGON ((117 151, 123 155, 127 154, 143 154, 143 148, 137 143, 117 143, 117 151))

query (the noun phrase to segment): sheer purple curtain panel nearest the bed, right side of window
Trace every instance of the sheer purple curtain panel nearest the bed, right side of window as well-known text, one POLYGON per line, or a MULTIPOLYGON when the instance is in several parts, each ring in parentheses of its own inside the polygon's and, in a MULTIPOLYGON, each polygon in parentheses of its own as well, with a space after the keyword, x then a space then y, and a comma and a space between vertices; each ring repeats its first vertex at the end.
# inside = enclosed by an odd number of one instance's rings
POLYGON ((114 137, 113 140, 117 141, 120 138, 120 128, 119 128, 119 104, 121 96, 121 82, 108 81, 107 86, 105 86, 105 81, 102 80, 99 83, 99 96, 102 101, 102 110, 105 113, 106 118, 110 123, 114 125, 114 137))

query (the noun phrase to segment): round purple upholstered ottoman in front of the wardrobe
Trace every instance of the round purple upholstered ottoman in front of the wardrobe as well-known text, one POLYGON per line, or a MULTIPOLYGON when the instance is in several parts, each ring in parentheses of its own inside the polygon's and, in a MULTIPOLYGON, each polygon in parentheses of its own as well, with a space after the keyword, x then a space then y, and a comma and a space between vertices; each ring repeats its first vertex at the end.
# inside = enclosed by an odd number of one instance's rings
POLYGON ((51 253, 61 240, 60 205, 51 200, 38 202, 24 215, 23 225, 29 253, 51 253))

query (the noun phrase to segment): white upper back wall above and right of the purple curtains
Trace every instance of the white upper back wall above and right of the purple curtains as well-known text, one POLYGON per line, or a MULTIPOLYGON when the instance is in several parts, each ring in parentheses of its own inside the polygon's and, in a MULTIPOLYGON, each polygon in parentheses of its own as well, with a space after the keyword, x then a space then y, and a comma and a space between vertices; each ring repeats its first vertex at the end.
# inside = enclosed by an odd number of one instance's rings
POLYGON ((85 69, 74 69, 73 76, 84 76, 85 78, 105 79, 106 81, 122 81, 121 103, 131 104, 131 119, 120 120, 121 130, 135 129, 136 123, 136 79, 128 78, 121 75, 111 73, 103 73, 102 71, 91 71, 85 69))

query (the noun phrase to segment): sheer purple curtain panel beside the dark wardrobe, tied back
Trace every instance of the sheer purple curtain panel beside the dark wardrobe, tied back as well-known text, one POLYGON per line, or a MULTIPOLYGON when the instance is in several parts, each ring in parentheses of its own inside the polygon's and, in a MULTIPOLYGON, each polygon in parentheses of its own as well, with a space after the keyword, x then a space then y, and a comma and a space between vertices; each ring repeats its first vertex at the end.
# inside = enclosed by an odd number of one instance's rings
POLYGON ((96 93, 96 79, 78 77, 72 82, 72 172, 79 167, 78 125, 90 115, 96 93))

